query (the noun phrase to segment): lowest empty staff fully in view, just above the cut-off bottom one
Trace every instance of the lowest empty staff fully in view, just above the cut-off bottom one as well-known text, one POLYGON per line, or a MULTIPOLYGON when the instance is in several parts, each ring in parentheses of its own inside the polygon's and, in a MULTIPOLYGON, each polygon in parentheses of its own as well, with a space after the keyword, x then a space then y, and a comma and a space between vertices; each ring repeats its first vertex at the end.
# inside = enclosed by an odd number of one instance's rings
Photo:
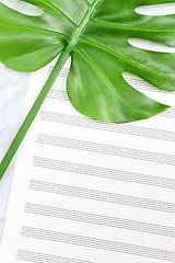
POLYGON ((66 232, 57 232, 46 229, 22 227, 21 236, 27 238, 42 239, 54 242, 68 243, 72 245, 86 247, 104 251, 113 251, 117 253, 126 253, 139 256, 145 256, 158 260, 165 260, 175 262, 175 252, 167 250, 160 250, 149 247, 141 247, 137 244, 122 243, 105 239, 97 239, 92 237, 78 236, 66 232))

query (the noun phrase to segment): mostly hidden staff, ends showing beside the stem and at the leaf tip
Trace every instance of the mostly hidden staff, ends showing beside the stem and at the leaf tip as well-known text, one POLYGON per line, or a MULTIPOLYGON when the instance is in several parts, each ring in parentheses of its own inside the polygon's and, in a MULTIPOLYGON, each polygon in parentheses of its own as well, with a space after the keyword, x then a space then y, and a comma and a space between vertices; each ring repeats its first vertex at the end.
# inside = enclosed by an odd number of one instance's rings
MULTIPOLYGON (((48 95, 49 99, 69 101, 67 92, 59 90, 58 92, 52 91, 52 95, 48 95)), ((175 108, 168 108, 163 113, 160 113, 158 116, 175 118, 175 108)))

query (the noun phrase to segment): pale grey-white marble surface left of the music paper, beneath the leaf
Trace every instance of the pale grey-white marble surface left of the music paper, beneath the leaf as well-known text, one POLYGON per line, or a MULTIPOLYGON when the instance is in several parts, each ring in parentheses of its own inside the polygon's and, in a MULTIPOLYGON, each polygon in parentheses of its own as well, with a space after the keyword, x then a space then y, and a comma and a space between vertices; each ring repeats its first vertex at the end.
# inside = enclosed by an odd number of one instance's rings
MULTIPOLYGON (((23 118, 28 73, 7 69, 0 64, 0 161, 20 128, 23 118)), ((3 230, 15 158, 0 181, 0 240, 3 230)))

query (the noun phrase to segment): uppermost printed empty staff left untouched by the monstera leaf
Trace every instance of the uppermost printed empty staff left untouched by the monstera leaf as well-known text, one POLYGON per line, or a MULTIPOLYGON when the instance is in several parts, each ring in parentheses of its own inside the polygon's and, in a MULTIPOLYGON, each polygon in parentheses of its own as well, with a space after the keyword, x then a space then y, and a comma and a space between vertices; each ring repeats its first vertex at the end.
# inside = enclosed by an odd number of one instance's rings
POLYGON ((74 150, 83 150, 95 153, 117 156, 122 158, 149 161, 162 164, 175 165, 175 156, 159 153, 153 151, 137 150, 132 148, 97 144, 86 140, 77 140, 65 137, 50 136, 45 134, 37 135, 37 144, 62 147, 74 150))

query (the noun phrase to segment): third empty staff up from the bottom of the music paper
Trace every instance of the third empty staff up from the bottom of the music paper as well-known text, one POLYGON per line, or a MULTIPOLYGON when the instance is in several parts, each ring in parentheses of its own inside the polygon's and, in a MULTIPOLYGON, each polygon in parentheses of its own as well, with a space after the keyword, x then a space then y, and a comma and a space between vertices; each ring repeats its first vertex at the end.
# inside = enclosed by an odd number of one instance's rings
POLYGON ((175 238, 175 228, 26 203, 25 213, 175 238))

